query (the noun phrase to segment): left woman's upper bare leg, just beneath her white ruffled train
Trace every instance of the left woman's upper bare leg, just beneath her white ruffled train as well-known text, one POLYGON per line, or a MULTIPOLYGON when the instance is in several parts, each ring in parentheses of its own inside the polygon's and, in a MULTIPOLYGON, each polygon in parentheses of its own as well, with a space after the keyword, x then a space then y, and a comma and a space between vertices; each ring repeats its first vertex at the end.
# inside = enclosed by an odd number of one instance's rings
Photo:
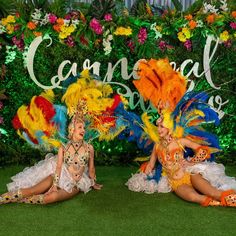
POLYGON ((53 177, 49 175, 45 179, 43 179, 38 184, 30 187, 30 188, 22 188, 21 193, 23 197, 29 197, 32 195, 38 195, 41 193, 45 193, 51 186, 53 182, 53 177))

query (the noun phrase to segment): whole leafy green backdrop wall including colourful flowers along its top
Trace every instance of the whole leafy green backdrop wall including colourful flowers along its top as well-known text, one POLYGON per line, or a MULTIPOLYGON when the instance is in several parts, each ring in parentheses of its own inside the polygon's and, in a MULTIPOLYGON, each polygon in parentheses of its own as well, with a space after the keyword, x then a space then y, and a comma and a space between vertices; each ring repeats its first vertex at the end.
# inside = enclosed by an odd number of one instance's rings
MULTIPOLYGON (((58 75, 62 62, 67 62, 64 77, 72 66, 78 72, 90 66, 120 93, 127 93, 129 88, 131 109, 137 113, 147 105, 136 95, 129 79, 135 64, 142 58, 168 57, 176 69, 188 76, 190 89, 206 90, 212 95, 209 102, 222 118, 219 127, 212 127, 224 150, 218 159, 236 163, 235 4, 226 0, 197 1, 198 5, 186 12, 163 9, 160 13, 142 3, 134 15, 124 7, 118 9, 113 1, 106 6, 102 5, 104 1, 99 2, 103 11, 93 11, 93 4, 81 5, 63 15, 35 8, 28 17, 15 12, 0 19, 0 96, 4 95, 0 100, 0 165, 31 162, 44 154, 40 150, 32 152, 11 124, 18 107, 43 90, 29 73, 29 54, 37 40, 40 43, 32 63, 39 84, 50 86, 50 78, 58 75)), ((60 101, 61 89, 54 90, 60 101)), ((125 141, 117 141, 116 145, 95 141, 94 145, 101 164, 124 164, 141 155, 125 141), (129 157, 122 158, 122 153, 129 157)))

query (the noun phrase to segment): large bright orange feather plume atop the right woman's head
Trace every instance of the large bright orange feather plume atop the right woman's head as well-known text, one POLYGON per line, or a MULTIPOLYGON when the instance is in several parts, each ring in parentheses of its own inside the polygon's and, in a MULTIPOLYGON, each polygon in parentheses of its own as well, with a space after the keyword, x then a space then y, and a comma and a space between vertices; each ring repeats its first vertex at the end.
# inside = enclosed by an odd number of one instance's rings
POLYGON ((133 81, 135 87, 157 109, 161 105, 173 111, 186 92, 187 80, 173 70, 168 59, 141 60, 138 76, 140 79, 133 81))

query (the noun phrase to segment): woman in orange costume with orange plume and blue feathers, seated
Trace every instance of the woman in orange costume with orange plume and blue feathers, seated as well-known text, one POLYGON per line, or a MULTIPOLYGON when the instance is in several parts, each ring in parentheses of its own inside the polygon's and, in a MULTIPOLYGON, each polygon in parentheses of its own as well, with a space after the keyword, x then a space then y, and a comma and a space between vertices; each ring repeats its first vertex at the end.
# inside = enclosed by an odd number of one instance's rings
MULTIPOLYGON (((157 128, 144 125, 156 144, 141 173, 128 180, 128 188, 146 193, 174 191, 202 206, 236 207, 235 178, 225 175, 223 165, 207 161, 219 149, 216 138, 200 127, 218 120, 206 103, 206 94, 185 93, 184 77, 173 71, 167 60, 142 61, 139 69, 140 80, 134 84, 157 108, 160 118, 157 128), (195 156, 184 158, 186 148, 194 150, 195 156), (157 161, 162 170, 154 170, 157 161), (162 175, 156 181, 153 175, 158 171, 162 175)), ((143 121, 147 123, 147 119, 143 121)))

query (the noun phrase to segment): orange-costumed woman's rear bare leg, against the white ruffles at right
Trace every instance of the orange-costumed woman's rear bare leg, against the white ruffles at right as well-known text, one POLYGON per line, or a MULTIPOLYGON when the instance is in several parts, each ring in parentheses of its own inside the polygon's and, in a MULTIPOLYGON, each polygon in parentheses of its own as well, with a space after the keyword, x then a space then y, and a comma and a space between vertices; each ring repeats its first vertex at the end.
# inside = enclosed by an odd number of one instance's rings
POLYGON ((210 196, 220 201, 222 191, 213 187, 200 174, 191 175, 191 183, 193 187, 204 195, 210 196))

